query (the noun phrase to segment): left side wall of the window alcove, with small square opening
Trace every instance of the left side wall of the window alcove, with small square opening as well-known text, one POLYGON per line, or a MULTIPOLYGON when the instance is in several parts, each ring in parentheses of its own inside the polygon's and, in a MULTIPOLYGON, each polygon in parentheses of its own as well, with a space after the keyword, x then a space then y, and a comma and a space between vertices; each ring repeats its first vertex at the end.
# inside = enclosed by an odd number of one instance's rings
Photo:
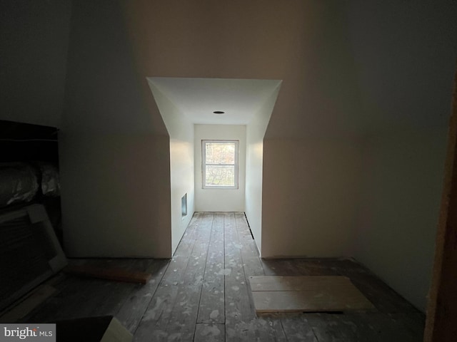
POLYGON ((174 253, 194 214, 194 124, 161 90, 149 86, 170 135, 171 251, 174 253), (187 214, 182 215, 181 198, 187 194, 187 214))

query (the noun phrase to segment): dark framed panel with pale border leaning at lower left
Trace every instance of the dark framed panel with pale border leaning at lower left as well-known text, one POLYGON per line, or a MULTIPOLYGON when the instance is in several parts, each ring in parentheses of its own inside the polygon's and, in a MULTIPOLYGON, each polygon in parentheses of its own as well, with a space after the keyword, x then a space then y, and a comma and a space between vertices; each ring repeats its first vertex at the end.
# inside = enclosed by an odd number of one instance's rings
POLYGON ((0 215, 0 310, 65 265, 65 254, 41 204, 0 215))

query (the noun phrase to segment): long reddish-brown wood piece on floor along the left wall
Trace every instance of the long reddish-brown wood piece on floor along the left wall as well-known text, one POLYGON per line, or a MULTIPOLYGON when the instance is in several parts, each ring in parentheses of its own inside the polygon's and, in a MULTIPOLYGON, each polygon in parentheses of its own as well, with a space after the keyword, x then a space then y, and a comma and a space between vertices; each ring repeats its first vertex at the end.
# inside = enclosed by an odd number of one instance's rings
POLYGON ((149 273, 127 271, 126 269, 102 269, 101 267, 86 265, 69 265, 64 268, 64 272, 76 276, 140 284, 146 284, 151 279, 151 274, 149 273))

